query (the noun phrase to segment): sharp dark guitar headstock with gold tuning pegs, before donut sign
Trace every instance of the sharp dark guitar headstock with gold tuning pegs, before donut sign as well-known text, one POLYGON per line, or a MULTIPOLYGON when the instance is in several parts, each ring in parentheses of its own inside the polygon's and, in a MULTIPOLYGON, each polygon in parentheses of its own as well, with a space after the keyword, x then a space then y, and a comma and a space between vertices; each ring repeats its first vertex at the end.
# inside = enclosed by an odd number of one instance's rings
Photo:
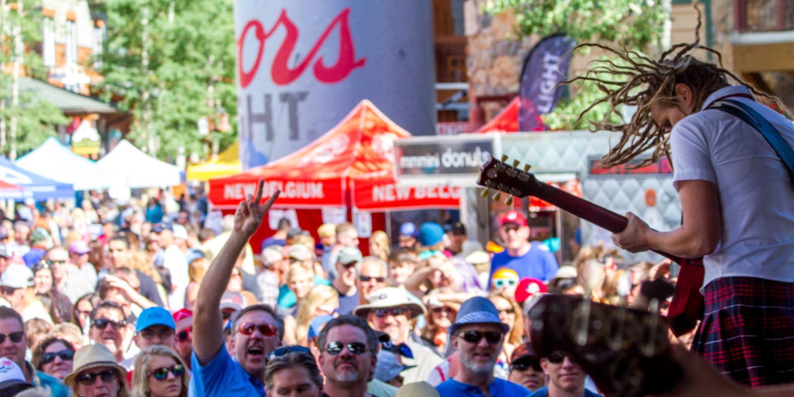
POLYGON ((502 156, 502 160, 496 160, 491 157, 480 168, 480 175, 477 177, 477 184, 486 187, 483 191, 483 197, 488 195, 488 189, 497 191, 493 195, 495 201, 499 201, 501 193, 510 195, 507 198, 507 205, 513 203, 513 197, 526 197, 530 195, 537 196, 538 192, 542 189, 542 182, 535 178, 535 175, 530 173, 530 164, 524 165, 523 169, 518 168, 518 160, 513 160, 513 164, 507 164, 507 156, 502 156))

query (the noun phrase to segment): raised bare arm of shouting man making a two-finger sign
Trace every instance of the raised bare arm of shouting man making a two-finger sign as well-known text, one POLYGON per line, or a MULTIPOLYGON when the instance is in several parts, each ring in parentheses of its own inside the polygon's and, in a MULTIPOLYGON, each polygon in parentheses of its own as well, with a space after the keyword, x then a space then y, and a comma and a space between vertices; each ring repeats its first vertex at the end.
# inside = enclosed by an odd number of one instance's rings
POLYGON ((223 330, 221 316, 221 296, 229 284, 232 268, 240 256, 245 244, 251 235, 259 228, 264 214, 279 197, 276 191, 264 204, 262 201, 262 187, 264 181, 259 181, 256 188, 256 198, 249 196, 234 213, 234 229, 229 241, 218 253, 210 264, 201 287, 193 311, 193 350, 199 364, 206 365, 223 349, 223 330))

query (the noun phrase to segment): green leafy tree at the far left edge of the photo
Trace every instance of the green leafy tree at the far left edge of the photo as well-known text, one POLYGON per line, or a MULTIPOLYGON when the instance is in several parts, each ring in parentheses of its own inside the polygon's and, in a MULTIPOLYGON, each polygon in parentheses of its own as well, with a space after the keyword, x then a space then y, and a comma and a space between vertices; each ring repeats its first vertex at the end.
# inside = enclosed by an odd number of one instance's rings
POLYGON ((67 118, 52 103, 19 90, 19 79, 46 79, 46 69, 36 52, 25 52, 41 42, 40 1, 0 1, 0 151, 11 159, 56 135, 55 125, 67 118), (9 72, 10 71, 10 72, 9 72))

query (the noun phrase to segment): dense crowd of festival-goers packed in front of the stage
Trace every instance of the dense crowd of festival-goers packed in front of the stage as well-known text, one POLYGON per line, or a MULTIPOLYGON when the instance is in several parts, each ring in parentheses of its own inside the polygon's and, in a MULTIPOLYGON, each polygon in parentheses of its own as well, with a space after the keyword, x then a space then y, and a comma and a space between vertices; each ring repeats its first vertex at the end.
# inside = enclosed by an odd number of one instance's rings
POLYGON ((152 200, 156 219, 103 202, 98 235, 81 227, 90 203, 26 203, 29 221, 0 225, 0 396, 592 396, 569 353, 535 353, 534 299, 661 299, 665 314, 670 294, 643 286, 676 279, 669 262, 624 264, 602 246, 559 266, 515 210, 500 245, 461 222, 405 223, 394 244, 373 233, 367 256, 352 224, 315 241, 282 219, 255 257, 275 199, 242 202, 220 233, 191 202, 169 215, 152 200))

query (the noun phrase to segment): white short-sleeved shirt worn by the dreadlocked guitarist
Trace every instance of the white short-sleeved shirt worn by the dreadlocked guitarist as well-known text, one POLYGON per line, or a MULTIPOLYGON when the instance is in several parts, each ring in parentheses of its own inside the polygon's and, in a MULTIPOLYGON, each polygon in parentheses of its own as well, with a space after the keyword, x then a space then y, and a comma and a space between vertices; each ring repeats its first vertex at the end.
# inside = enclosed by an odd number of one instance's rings
MULTIPOLYGON (((711 94, 703 109, 746 87, 711 94)), ((757 110, 794 147, 794 125, 750 98, 731 97, 757 110)), ((719 191, 722 236, 703 258, 703 286, 731 276, 794 282, 794 181, 772 146, 752 126, 723 110, 703 110, 676 123, 670 137, 673 180, 700 179, 719 191)))

